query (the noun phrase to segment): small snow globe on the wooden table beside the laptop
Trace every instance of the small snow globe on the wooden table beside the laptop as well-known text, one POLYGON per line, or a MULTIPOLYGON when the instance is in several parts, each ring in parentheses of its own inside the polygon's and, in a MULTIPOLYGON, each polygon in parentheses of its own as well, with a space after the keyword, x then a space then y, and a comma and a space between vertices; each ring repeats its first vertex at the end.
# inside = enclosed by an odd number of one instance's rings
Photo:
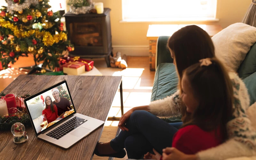
POLYGON ((28 140, 27 132, 25 132, 25 126, 22 123, 17 122, 12 124, 11 131, 14 143, 23 143, 28 140))

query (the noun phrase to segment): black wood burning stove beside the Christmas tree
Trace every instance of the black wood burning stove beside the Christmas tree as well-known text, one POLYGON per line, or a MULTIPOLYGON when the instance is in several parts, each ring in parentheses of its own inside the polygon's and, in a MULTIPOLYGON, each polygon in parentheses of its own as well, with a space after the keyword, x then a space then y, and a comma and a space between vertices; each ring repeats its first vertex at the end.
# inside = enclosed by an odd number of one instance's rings
POLYGON ((86 13, 64 14, 68 39, 75 46, 71 56, 81 58, 104 57, 110 67, 109 55, 112 54, 112 40, 110 28, 110 9, 104 8, 102 14, 86 13))

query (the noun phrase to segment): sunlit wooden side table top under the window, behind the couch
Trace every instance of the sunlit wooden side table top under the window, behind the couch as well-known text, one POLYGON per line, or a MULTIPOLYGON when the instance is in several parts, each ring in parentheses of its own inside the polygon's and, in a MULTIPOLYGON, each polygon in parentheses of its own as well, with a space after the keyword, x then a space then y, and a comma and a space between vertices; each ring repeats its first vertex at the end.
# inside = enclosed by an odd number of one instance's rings
MULTIPOLYGON (((172 36, 174 32, 179 30, 182 27, 188 26, 190 24, 154 24, 148 26, 147 38, 148 40, 157 40, 159 36, 172 36)), ((220 25, 205 25, 198 24, 196 25, 204 29, 209 36, 214 36, 216 33, 222 30, 220 25)))

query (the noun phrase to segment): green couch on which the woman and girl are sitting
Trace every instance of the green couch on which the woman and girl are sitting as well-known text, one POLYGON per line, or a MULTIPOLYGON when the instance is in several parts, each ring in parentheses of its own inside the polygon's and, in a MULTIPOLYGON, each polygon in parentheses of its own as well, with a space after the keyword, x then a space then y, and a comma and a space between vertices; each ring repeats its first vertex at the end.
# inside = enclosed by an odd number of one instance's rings
MULTIPOLYGON (((151 101, 163 99, 177 91, 178 76, 173 64, 173 59, 171 58, 171 53, 166 46, 168 38, 169 36, 160 36, 157 40, 156 73, 152 89, 151 101)), ((239 77, 243 79, 248 89, 250 96, 250 107, 248 108, 248 112, 250 113, 248 114, 251 116, 252 124, 254 124, 254 127, 256 127, 256 119, 254 118, 256 116, 256 43, 251 46, 243 62, 240 64, 237 73, 239 77)), ((180 118, 181 117, 174 117, 164 120, 168 123, 181 122, 180 118)), ((240 159, 243 158, 245 157, 240 157, 240 159)), ((251 158, 253 159, 256 157, 246 157, 246 159, 251 158)))

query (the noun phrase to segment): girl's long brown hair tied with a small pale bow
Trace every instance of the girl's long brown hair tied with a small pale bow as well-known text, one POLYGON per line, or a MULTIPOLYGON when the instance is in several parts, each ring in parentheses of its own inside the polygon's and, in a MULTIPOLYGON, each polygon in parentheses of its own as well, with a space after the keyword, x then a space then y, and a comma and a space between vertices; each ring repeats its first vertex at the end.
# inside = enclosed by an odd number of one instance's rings
POLYGON ((220 127, 222 140, 226 140, 226 124, 232 116, 233 88, 222 63, 216 58, 210 60, 209 66, 200 67, 201 63, 196 63, 183 72, 199 102, 191 119, 183 126, 195 124, 205 131, 220 127))

